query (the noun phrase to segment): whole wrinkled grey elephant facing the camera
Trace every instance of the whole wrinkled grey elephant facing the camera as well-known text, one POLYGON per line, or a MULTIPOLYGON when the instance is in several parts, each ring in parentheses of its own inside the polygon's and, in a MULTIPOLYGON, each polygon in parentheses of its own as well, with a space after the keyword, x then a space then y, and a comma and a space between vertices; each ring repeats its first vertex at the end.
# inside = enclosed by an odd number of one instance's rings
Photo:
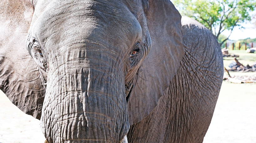
POLYGON ((1 0, 0 89, 50 143, 202 143, 212 33, 169 0, 1 0))

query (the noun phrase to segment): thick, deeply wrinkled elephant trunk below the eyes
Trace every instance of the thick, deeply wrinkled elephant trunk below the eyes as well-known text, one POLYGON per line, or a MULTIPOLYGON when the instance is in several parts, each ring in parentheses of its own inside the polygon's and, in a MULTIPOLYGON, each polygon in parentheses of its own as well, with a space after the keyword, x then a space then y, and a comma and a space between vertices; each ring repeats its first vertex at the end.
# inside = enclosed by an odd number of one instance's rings
POLYGON ((50 143, 125 141, 130 126, 121 69, 87 58, 52 65, 41 117, 46 139, 50 143))

